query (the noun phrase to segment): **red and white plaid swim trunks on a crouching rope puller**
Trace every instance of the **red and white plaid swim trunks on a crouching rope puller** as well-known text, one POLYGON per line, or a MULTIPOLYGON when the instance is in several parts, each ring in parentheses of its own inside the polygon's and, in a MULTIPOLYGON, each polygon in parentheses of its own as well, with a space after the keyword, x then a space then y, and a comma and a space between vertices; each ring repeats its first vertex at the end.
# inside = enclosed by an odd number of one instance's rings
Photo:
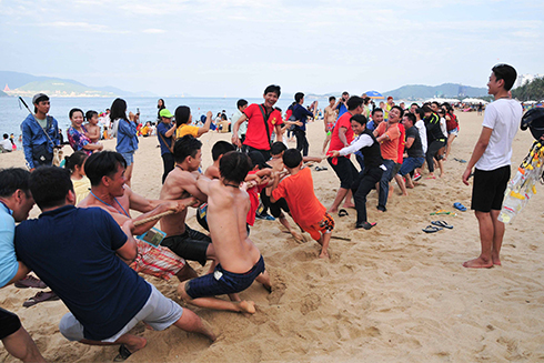
POLYGON ((185 266, 185 260, 163 246, 152 246, 137 240, 138 256, 130 264, 135 272, 145 273, 169 281, 185 266))

